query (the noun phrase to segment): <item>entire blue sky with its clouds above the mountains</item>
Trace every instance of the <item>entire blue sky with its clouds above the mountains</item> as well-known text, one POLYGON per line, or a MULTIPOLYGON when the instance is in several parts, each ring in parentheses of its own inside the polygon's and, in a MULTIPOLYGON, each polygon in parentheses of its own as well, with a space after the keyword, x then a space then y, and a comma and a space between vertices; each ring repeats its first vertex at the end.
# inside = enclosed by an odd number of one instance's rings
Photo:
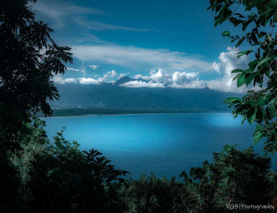
POLYGON ((149 82, 122 86, 164 87, 162 81, 175 88, 244 92, 230 72, 246 68, 249 58, 236 59, 239 50, 221 35, 240 29, 230 23, 214 28, 214 12, 207 7, 208 0, 38 0, 34 5, 37 19, 54 30, 53 39, 75 56, 56 83, 99 84, 128 75, 149 82))

